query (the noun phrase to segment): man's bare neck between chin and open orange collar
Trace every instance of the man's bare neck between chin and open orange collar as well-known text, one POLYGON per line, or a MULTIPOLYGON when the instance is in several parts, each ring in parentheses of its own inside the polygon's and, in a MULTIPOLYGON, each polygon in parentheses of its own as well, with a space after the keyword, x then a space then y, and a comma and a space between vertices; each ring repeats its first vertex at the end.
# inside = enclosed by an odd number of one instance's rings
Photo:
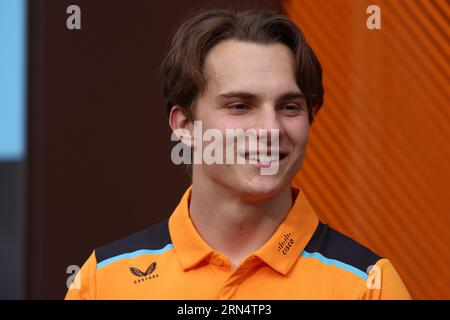
POLYGON ((216 183, 196 183, 194 177, 189 213, 205 242, 237 266, 270 239, 291 206, 289 185, 273 197, 249 201, 216 183))

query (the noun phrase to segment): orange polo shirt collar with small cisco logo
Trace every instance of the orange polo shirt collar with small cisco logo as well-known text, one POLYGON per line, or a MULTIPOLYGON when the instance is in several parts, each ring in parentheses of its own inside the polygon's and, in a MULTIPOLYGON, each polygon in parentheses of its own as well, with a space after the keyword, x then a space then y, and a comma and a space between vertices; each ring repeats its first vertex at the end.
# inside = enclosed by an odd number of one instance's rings
MULTIPOLYGON (((201 238, 189 217, 192 187, 184 193, 169 219, 174 250, 183 270, 198 266, 214 250, 201 238)), ((318 218, 304 192, 292 187, 294 204, 272 237, 253 253, 269 267, 286 275, 311 239, 318 218)))

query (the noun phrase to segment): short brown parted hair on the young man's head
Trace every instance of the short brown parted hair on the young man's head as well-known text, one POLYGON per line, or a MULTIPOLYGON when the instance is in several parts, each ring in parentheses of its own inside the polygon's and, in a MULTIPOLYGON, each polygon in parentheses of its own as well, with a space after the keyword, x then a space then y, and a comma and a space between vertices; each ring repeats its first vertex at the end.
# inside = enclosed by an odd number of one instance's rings
POLYGON ((226 39, 259 44, 282 43, 294 53, 297 84, 306 98, 309 121, 323 104, 322 67, 302 31, 271 11, 214 9, 189 15, 176 32, 162 63, 167 114, 174 105, 193 119, 193 102, 205 87, 203 63, 211 48, 226 39))

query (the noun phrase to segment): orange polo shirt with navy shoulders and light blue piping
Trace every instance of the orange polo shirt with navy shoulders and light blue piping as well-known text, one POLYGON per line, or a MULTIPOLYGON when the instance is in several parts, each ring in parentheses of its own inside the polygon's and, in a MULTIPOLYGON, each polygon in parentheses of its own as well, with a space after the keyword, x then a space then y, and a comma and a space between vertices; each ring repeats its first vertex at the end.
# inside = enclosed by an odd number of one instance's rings
POLYGON ((192 224, 189 188, 168 221, 94 250, 66 299, 410 299, 387 259, 321 223, 294 191, 269 241, 233 269, 192 224))

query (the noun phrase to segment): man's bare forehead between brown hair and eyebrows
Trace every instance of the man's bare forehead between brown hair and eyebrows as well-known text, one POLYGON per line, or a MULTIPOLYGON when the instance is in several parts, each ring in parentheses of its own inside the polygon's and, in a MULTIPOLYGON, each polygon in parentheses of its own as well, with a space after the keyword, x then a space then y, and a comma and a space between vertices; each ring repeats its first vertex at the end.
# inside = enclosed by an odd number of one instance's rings
POLYGON ((225 40, 214 46, 206 56, 206 91, 275 93, 299 90, 295 69, 294 54, 284 44, 225 40))

